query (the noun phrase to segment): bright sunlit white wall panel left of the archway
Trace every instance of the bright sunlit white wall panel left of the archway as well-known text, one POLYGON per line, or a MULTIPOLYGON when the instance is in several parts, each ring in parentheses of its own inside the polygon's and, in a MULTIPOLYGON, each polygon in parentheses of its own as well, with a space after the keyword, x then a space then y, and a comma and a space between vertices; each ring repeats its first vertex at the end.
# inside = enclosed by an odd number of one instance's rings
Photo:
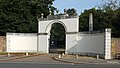
POLYGON ((7 33, 7 52, 37 52, 37 34, 7 33))

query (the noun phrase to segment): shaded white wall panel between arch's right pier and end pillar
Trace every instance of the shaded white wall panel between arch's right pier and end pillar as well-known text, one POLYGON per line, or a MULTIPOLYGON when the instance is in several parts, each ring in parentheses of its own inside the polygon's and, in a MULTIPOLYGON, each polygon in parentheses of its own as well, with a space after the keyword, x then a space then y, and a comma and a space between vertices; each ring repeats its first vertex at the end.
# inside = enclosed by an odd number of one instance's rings
POLYGON ((104 54, 104 33, 78 34, 78 51, 83 53, 104 54))

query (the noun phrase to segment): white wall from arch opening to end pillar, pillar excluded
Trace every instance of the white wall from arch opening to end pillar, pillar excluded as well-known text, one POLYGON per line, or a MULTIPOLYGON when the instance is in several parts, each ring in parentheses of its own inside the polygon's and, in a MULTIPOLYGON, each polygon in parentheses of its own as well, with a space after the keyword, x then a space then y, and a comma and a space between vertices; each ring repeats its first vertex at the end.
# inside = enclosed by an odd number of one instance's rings
POLYGON ((93 53, 104 55, 104 33, 78 33, 77 35, 71 34, 68 36, 69 43, 67 46, 67 51, 69 53, 93 53))

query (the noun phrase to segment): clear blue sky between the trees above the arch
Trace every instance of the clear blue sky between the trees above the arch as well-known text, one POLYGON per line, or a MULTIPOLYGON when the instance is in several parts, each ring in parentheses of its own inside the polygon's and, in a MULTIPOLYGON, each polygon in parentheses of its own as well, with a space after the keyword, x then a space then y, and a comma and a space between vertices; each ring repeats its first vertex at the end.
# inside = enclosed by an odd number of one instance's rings
POLYGON ((85 9, 93 8, 101 3, 102 0, 55 0, 53 6, 59 10, 59 13, 63 13, 64 9, 75 8, 80 14, 85 9))

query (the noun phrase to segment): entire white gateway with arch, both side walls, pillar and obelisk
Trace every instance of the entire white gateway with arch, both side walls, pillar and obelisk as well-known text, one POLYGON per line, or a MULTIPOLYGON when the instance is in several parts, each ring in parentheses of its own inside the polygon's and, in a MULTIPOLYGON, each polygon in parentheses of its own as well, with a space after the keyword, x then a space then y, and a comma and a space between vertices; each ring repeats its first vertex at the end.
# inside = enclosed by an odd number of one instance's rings
MULTIPOLYGON (((91 20, 90 23, 93 23, 91 20)), ((66 54, 100 55, 111 59, 111 29, 93 31, 93 25, 90 24, 90 31, 79 32, 79 17, 66 13, 55 16, 50 14, 47 18, 43 18, 42 14, 38 19, 37 34, 7 33, 7 52, 50 53, 50 45, 58 45, 56 40, 50 40, 52 25, 56 23, 64 28, 66 54)))

